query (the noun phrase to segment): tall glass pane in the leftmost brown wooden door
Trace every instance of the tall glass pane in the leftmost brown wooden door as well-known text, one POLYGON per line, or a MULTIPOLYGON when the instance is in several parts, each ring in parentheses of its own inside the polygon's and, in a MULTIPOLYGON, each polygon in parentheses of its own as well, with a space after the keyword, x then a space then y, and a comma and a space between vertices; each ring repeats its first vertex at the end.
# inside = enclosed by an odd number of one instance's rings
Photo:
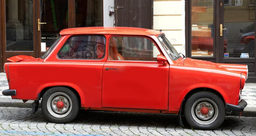
MULTIPOLYGON (((0 32, 1 33, 1 32, 0 32)), ((33 51, 31 0, 6 0, 6 51, 33 51)))

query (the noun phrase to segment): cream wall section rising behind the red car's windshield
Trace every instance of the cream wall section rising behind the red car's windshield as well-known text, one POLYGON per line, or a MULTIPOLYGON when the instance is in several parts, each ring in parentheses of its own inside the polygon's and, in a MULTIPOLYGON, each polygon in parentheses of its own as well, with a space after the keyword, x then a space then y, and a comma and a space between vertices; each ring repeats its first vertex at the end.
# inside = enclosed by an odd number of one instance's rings
POLYGON ((154 30, 162 30, 185 55, 185 0, 154 0, 154 30))

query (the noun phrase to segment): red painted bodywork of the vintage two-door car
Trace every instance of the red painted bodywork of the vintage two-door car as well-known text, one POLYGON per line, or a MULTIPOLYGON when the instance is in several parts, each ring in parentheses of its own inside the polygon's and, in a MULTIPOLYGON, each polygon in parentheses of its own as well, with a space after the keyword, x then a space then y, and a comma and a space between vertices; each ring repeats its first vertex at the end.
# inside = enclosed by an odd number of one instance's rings
POLYGON ((217 64, 191 58, 172 60, 163 51, 159 31, 143 28, 70 28, 44 59, 9 58, 5 70, 13 99, 37 100, 38 93, 52 86, 68 86, 78 92, 84 108, 109 111, 177 113, 182 100, 194 89, 221 94, 225 103, 238 104, 244 87, 247 65, 217 64), (105 57, 101 60, 58 59, 57 53, 73 34, 102 34, 106 37, 105 57), (113 35, 145 36, 162 50, 166 66, 157 61, 107 60, 108 42, 113 35), (118 70, 105 70, 106 67, 118 70), (242 73, 242 74, 241 74, 242 73), (242 79, 241 79, 242 76, 242 79), (240 80, 242 81, 240 85, 240 80))

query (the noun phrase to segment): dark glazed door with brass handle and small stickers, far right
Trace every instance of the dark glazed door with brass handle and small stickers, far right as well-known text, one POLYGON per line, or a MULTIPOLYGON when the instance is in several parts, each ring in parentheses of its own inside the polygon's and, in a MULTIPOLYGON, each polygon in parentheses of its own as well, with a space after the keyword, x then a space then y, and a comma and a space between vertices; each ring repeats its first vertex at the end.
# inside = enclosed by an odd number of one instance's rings
POLYGON ((242 3, 219 0, 218 8, 219 61, 246 64, 247 82, 256 82, 255 0, 243 0, 242 3))

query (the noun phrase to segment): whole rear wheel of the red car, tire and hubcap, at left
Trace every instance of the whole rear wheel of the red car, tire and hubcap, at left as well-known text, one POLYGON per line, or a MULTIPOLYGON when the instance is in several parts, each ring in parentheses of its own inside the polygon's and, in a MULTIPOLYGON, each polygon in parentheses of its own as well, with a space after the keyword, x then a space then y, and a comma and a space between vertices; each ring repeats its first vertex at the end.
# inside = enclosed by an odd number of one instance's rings
POLYGON ((45 92, 41 101, 44 116, 53 123, 68 123, 79 114, 78 96, 66 87, 53 87, 45 92))

